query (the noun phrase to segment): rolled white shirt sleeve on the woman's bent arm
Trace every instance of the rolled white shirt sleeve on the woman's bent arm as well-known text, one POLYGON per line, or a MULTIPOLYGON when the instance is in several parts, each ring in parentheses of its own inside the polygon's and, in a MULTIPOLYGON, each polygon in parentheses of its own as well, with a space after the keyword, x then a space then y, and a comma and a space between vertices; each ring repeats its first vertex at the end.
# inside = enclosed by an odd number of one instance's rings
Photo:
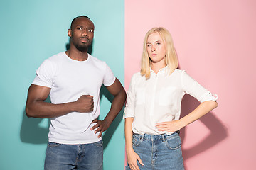
POLYGON ((216 101, 218 99, 216 94, 211 94, 210 91, 201 86, 201 84, 198 84, 198 82, 190 77, 185 71, 182 72, 181 84, 183 91, 190 94, 201 103, 204 101, 216 101))

